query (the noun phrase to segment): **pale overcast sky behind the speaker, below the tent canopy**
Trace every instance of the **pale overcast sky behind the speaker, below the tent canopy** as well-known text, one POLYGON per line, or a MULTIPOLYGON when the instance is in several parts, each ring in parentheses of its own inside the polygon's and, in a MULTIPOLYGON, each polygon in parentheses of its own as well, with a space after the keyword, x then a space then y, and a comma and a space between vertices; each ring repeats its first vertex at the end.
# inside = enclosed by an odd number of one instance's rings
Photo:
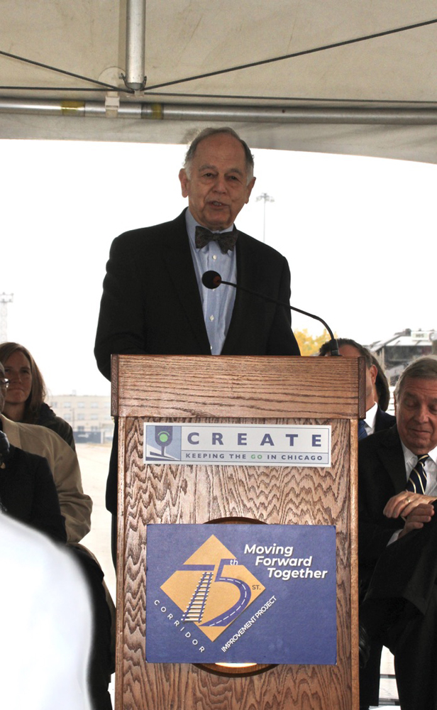
MULTIPOLYGON (((8 339, 31 350, 52 394, 107 394, 93 347, 109 246, 184 208, 184 146, 0 141, 0 293, 8 339)), ((254 151, 257 182, 237 226, 281 251, 292 305, 364 344, 437 329, 437 166, 254 151)), ((303 316, 295 329, 323 329, 303 316)))

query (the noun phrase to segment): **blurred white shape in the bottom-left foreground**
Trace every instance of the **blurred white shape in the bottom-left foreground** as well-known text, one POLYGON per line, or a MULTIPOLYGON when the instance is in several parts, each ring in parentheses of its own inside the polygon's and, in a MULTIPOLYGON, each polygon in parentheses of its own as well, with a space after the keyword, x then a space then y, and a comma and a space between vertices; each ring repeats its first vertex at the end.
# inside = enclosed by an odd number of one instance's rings
POLYGON ((0 513, 0 707, 91 710, 92 617, 77 565, 0 513))

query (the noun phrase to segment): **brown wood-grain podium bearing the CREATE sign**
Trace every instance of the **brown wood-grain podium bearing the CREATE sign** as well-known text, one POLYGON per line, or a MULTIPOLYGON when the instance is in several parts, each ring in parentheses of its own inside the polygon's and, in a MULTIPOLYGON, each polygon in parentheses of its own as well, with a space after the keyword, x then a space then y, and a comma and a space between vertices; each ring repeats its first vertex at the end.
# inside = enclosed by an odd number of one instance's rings
POLYGON ((363 358, 113 356, 119 417, 116 710, 358 710, 358 417, 363 358), (145 464, 143 424, 331 425, 331 467, 145 464), (337 664, 247 676, 145 661, 148 523, 336 526, 337 664))

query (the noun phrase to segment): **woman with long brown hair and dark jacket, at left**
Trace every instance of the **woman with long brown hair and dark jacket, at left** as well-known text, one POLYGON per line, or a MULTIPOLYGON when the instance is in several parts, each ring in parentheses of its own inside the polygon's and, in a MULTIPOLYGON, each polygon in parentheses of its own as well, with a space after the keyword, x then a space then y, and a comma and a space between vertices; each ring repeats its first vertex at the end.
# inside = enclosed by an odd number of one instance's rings
POLYGON ((48 427, 74 449, 72 427, 45 403, 45 382, 28 349, 18 343, 1 343, 0 362, 9 379, 4 415, 13 422, 48 427))

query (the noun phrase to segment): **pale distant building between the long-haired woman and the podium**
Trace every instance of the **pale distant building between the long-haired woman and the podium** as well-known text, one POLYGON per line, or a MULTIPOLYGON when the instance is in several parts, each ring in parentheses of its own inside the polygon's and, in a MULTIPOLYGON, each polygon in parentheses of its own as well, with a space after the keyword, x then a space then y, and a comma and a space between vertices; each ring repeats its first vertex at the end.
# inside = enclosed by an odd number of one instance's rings
POLYGON ((55 414, 71 425, 77 444, 111 441, 114 422, 109 396, 52 395, 48 397, 48 404, 55 414))

